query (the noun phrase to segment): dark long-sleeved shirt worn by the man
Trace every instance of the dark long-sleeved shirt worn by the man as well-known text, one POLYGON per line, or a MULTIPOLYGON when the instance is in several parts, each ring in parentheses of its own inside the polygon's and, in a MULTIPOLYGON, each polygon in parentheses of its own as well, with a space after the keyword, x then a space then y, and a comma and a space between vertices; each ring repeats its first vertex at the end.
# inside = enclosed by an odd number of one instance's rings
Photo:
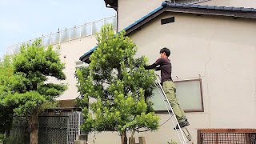
POLYGON ((150 66, 145 66, 146 70, 154 69, 154 68, 155 68, 155 70, 161 70, 161 81, 162 82, 172 81, 171 63, 168 58, 158 58, 158 60, 156 62, 154 62, 154 64, 152 64, 150 66), (158 67, 156 67, 156 66, 158 66, 158 67))

